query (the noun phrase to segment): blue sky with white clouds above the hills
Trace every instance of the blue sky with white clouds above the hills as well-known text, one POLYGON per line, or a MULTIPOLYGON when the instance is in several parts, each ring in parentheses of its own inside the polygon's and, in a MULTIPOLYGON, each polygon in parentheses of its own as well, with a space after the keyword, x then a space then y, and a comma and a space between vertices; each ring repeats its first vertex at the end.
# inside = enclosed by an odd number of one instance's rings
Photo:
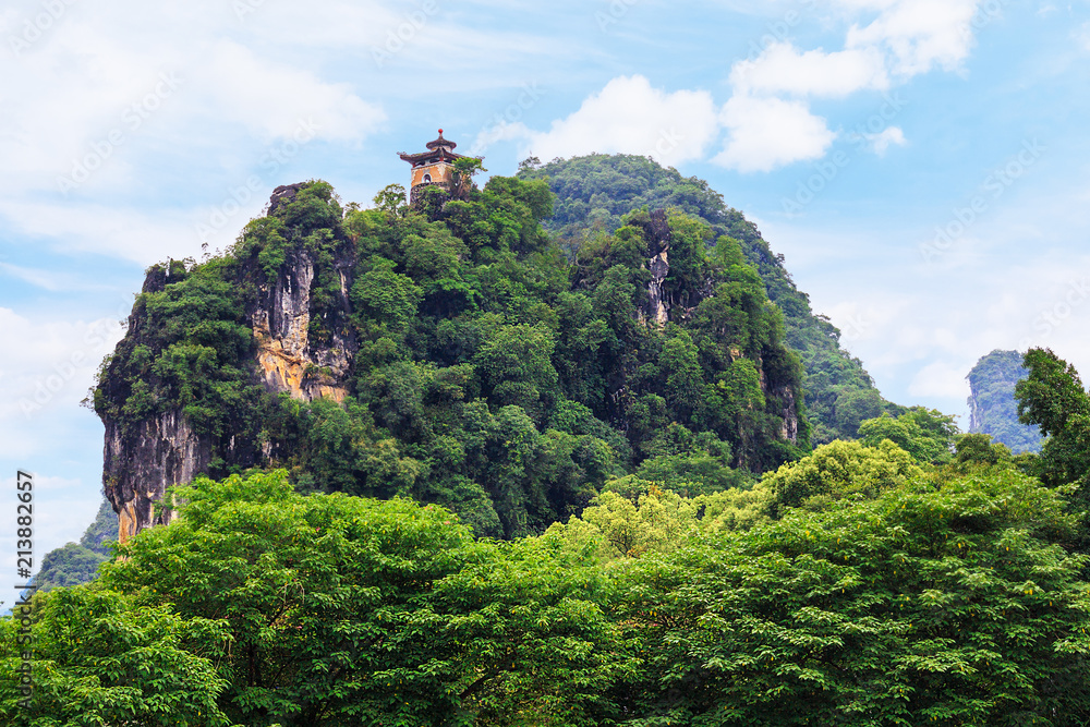
POLYGON ((1086 0, 9 0, 0 45, 0 478, 38 474, 39 554, 97 506, 78 402, 144 268, 278 184, 367 204, 439 126, 496 174, 707 179, 894 401, 964 415, 995 348, 1090 371, 1086 0))

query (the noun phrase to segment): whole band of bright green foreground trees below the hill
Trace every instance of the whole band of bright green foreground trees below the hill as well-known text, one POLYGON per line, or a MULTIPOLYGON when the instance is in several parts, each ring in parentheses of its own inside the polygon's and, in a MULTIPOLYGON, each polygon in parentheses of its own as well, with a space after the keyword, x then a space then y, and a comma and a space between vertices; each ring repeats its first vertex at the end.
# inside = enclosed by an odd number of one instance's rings
POLYGON ((172 490, 178 519, 121 546, 96 583, 35 597, 29 711, 16 707, 17 621, 0 620, 0 715, 1085 722, 1087 559, 1062 545, 1077 518, 1058 492, 1002 465, 919 477, 888 440, 828 445, 795 469, 693 497, 614 480, 582 518, 513 542, 401 498, 303 496, 286 472, 198 478, 172 490), (792 477, 844 497, 783 507, 792 477))

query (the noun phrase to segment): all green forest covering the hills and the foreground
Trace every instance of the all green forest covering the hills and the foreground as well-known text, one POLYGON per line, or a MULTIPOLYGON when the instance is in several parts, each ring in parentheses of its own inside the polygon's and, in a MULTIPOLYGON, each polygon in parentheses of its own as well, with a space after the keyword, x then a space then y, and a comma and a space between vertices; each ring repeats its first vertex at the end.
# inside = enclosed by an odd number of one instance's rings
POLYGON ((595 155, 455 190, 312 181, 148 270, 92 403, 181 411, 210 464, 0 619, 2 724, 1090 724, 1074 367, 1025 354, 1014 453, 885 401, 704 182, 595 155), (340 403, 259 380, 303 258, 340 403))

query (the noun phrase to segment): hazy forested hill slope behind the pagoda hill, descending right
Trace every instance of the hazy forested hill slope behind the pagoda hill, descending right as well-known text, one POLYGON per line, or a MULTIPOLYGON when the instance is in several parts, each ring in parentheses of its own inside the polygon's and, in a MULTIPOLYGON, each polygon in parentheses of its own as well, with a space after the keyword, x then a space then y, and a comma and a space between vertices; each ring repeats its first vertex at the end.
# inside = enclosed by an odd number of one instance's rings
POLYGON ((852 438, 861 421, 883 411, 904 412, 881 397, 862 362, 840 348, 840 331, 813 313, 809 296, 784 267, 783 255, 773 254, 756 227, 727 207, 707 182, 629 155, 573 157, 547 165, 529 159, 519 177, 548 179, 557 202, 546 228, 569 251, 597 232, 614 232, 625 215, 643 207, 681 210, 707 222, 715 239, 737 240, 747 262, 760 272, 768 298, 783 311, 786 341, 802 360, 815 444, 852 438))

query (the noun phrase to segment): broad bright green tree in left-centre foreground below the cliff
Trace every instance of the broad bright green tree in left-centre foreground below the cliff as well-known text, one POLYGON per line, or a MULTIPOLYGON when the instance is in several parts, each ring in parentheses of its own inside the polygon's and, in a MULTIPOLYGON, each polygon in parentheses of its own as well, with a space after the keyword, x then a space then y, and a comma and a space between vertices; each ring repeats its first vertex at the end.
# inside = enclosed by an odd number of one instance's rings
POLYGON ((233 722, 594 725, 630 667, 602 575, 555 538, 474 543, 441 508, 303 497, 282 472, 175 496, 102 582, 225 625, 233 722))

